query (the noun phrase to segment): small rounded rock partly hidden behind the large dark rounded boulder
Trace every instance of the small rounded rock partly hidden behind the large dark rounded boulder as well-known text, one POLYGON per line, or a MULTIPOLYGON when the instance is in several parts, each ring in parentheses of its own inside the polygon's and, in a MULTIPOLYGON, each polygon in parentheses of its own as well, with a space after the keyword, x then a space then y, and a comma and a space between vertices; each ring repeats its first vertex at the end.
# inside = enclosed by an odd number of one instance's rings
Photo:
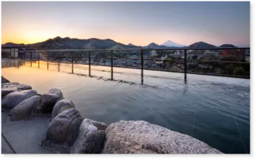
POLYGON ((73 102, 68 99, 62 99, 56 102, 52 112, 51 112, 51 121, 59 114, 62 113, 64 110, 69 110, 74 108, 73 102))

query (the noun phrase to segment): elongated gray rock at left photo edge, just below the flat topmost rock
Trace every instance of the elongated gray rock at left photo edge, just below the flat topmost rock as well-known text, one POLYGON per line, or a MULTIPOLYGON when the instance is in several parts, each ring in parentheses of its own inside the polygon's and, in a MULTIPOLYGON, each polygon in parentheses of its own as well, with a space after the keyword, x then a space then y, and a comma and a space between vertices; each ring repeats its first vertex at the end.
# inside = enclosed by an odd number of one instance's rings
POLYGON ((14 106, 17 106, 24 99, 28 99, 33 95, 36 95, 36 90, 13 91, 1 100, 1 106, 7 109, 13 109, 14 106))

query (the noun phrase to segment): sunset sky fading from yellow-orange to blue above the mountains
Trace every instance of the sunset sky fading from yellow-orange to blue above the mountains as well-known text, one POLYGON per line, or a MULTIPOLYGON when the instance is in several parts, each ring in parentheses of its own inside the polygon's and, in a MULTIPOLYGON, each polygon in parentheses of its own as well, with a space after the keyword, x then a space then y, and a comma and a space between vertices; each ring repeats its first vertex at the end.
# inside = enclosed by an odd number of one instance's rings
POLYGON ((145 46, 167 40, 250 47, 246 0, 0 0, 0 44, 56 36, 145 46))

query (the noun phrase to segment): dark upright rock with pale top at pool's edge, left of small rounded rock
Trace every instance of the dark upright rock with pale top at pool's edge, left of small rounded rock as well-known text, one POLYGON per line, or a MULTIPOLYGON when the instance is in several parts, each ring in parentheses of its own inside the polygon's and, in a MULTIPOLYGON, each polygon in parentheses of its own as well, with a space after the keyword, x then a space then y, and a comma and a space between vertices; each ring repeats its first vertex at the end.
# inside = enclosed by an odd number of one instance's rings
POLYGON ((61 99, 63 99, 62 91, 53 88, 41 96, 40 104, 37 106, 36 110, 40 113, 51 113, 55 103, 61 99))

